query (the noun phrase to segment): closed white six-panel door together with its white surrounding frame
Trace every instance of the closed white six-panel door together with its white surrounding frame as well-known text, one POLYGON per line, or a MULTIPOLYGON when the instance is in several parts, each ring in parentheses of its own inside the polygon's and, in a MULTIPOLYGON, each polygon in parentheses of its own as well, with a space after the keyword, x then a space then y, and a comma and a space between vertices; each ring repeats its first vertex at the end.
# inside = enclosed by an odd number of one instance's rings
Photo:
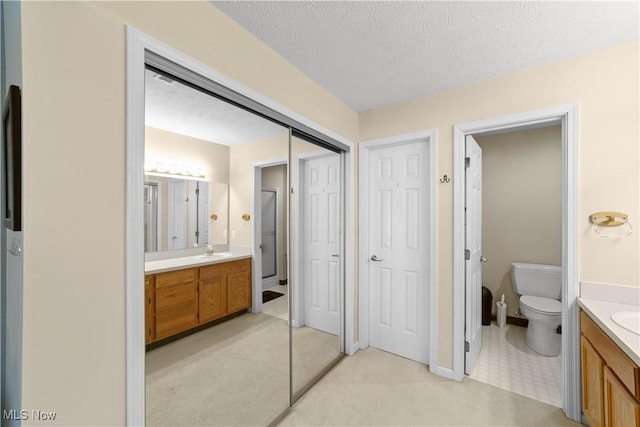
POLYGON ((362 344, 429 364, 432 370, 434 137, 424 131, 360 145, 362 344))

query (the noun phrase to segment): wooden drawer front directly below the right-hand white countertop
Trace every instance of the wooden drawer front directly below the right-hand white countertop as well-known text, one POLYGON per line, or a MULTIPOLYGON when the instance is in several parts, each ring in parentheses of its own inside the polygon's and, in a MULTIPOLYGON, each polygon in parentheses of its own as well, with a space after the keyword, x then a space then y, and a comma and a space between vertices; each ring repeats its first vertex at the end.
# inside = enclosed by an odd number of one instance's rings
POLYGON ((583 311, 580 312, 580 329, 620 382, 640 399, 640 368, 583 311))

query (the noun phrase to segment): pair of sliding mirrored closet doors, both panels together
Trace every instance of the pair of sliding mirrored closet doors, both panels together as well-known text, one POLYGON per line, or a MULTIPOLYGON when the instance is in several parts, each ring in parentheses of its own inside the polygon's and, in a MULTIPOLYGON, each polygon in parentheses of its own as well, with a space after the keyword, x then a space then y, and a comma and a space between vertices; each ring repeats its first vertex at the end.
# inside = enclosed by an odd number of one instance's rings
POLYGON ((343 354, 343 155, 145 72, 147 425, 268 425, 343 354))

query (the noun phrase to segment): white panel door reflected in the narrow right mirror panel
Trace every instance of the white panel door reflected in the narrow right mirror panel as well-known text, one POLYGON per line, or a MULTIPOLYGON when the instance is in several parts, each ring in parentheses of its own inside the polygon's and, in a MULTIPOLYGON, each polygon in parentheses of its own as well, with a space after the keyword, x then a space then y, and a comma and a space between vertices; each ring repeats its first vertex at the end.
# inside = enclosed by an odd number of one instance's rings
POLYGON ((304 323, 340 332, 340 156, 310 159, 304 176, 304 323))

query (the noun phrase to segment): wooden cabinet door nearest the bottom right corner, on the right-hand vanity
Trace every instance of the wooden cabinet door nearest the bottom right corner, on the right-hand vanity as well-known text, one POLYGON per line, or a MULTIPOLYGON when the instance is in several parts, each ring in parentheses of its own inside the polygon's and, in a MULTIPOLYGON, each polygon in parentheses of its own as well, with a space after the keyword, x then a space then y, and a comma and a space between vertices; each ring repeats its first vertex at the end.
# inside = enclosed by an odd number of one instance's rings
POLYGON ((640 426, 640 403, 608 366, 604 368, 604 401, 605 426, 640 426))

